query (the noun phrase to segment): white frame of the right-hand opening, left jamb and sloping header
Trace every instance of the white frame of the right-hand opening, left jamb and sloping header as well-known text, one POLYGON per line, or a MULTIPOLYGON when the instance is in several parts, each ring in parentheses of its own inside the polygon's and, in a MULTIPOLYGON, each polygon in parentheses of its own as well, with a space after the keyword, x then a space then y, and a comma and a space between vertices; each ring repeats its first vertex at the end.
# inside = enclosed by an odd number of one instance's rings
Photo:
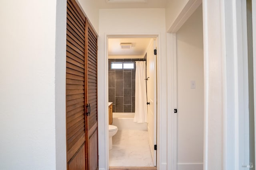
POLYGON ((202 4, 202 0, 188 0, 184 8, 180 11, 166 33, 167 44, 167 169, 177 170, 177 140, 178 140, 178 115, 174 113, 177 108, 177 54, 176 54, 176 32, 190 18, 196 9, 202 4))

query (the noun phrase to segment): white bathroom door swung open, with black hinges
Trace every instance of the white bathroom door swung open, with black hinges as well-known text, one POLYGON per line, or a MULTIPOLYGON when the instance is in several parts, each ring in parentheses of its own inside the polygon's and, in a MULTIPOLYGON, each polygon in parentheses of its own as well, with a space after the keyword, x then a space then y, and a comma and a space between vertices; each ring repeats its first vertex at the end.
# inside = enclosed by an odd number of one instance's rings
POLYGON ((147 100, 148 104, 148 134, 150 143, 150 152, 153 159, 153 164, 156 166, 156 55, 154 55, 154 49, 156 49, 156 39, 150 42, 147 51, 147 100))

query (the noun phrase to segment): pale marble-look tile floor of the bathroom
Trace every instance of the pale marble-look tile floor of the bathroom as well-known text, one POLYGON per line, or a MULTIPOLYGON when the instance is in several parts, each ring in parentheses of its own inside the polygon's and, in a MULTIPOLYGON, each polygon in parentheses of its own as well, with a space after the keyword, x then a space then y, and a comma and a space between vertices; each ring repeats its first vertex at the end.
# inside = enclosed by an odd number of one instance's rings
POLYGON ((109 166, 153 166, 148 131, 118 130, 112 142, 109 166))

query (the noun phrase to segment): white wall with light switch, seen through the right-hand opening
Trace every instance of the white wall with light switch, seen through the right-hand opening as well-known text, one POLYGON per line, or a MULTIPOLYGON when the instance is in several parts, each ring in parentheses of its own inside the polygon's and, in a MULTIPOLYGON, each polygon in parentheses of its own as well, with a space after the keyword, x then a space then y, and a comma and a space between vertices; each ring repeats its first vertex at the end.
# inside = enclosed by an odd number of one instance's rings
POLYGON ((176 33, 178 170, 203 169, 204 55, 202 5, 176 33), (190 88, 194 80, 196 88, 190 88), (189 168, 188 168, 189 167, 189 168))

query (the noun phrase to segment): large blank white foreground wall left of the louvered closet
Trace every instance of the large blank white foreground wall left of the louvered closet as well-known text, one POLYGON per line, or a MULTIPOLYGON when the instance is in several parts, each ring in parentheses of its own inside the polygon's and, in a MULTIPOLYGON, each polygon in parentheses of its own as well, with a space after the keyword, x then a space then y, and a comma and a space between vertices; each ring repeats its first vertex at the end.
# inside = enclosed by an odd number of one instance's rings
POLYGON ((56 0, 3 0, 0 21, 0 169, 54 170, 56 0))

